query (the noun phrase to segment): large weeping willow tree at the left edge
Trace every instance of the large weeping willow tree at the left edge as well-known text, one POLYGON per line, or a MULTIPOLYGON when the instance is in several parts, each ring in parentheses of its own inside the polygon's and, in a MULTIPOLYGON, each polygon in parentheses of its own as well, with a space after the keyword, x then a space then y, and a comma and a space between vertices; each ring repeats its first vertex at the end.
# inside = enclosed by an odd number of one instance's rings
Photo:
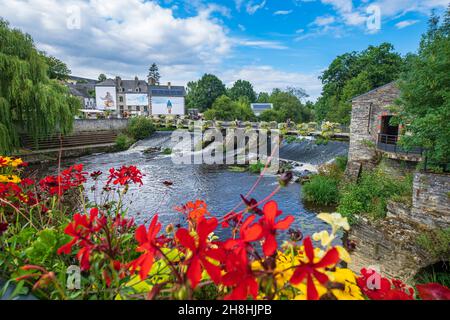
POLYGON ((21 133, 39 137, 72 130, 80 101, 48 77, 33 39, 0 19, 0 154, 19 146, 21 133))

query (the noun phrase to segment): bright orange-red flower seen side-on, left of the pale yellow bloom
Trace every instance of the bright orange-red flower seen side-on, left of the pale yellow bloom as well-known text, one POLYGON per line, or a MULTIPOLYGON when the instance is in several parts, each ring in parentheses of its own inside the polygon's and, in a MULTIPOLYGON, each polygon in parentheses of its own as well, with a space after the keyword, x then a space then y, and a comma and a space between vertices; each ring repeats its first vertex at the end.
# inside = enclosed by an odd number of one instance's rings
POLYGON ((293 216, 275 222, 275 218, 282 212, 278 210, 278 204, 275 201, 267 202, 263 207, 264 216, 261 219, 261 225, 264 233, 263 251, 266 256, 271 256, 277 250, 278 244, 275 238, 277 230, 286 230, 294 221, 293 216))

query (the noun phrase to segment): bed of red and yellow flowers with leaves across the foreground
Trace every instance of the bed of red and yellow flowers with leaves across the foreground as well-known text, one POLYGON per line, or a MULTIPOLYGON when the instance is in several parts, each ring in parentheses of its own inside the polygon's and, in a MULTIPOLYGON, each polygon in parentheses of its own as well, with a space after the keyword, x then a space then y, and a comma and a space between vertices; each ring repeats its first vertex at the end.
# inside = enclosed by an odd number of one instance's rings
POLYGON ((41 299, 450 298, 438 284, 415 290, 373 270, 358 276, 347 269, 347 249, 332 245, 349 229, 337 213, 318 215, 331 232, 303 239, 290 228, 294 217, 281 219, 270 196, 258 202, 248 194, 222 217, 196 200, 176 208, 183 225, 163 228, 149 212, 148 225, 137 226, 123 199, 131 184, 142 185, 138 168, 112 168, 100 186, 104 173, 88 174, 82 165, 40 181, 21 179, 25 165, 0 157, 0 277, 14 281, 20 293, 31 290, 41 299), (87 179, 96 182, 92 202, 83 196, 87 179), (64 202, 71 192, 82 199, 76 213, 64 202), (244 209, 236 210, 239 205, 244 209), (217 238, 219 228, 232 236, 217 238), (290 240, 281 243, 281 232, 290 240), (67 277, 74 268, 80 270, 75 281, 67 277))

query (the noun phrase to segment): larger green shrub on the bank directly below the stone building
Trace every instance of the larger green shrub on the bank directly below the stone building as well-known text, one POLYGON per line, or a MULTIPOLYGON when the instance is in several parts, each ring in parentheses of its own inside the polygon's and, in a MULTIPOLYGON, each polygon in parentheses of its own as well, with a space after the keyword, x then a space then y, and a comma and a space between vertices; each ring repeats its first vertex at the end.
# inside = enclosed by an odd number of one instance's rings
POLYGON ((337 211, 355 222, 356 215, 372 219, 386 216, 386 205, 393 197, 412 196, 412 175, 393 178, 383 170, 364 172, 357 183, 348 183, 341 190, 337 211))

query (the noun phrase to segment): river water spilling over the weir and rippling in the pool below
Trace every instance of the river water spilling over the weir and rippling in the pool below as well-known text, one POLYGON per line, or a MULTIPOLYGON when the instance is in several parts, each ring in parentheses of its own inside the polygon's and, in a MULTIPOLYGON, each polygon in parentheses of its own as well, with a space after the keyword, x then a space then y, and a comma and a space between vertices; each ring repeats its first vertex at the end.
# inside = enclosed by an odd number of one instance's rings
MULTIPOLYGON (((145 153, 150 147, 172 148, 169 132, 157 132, 152 137, 139 141, 131 149, 116 153, 102 153, 65 160, 63 166, 83 163, 85 171, 102 171, 99 185, 106 180, 108 170, 122 165, 135 165, 145 175, 144 185, 131 186, 126 196, 126 205, 130 208, 128 214, 135 217, 137 223, 146 223, 158 213, 164 224, 183 223, 182 215, 174 210, 188 201, 204 200, 212 215, 220 217, 233 209, 240 202, 240 194, 246 194, 258 179, 258 175, 249 172, 232 172, 225 166, 217 165, 177 165, 170 155, 161 153, 145 153), (171 186, 163 182, 170 181, 171 186)), ((347 144, 330 142, 328 145, 316 145, 312 140, 300 143, 283 144, 280 157, 298 160, 314 165, 325 163, 337 155, 346 154, 347 144)), ((46 173, 55 173, 56 167, 47 168, 46 173)), ((264 199, 278 185, 276 176, 265 176, 261 179, 251 197, 264 199)), ((86 190, 90 190, 92 182, 89 179, 86 190)), ((94 193, 88 191, 88 197, 93 200, 94 193)), ((281 189, 273 200, 278 202, 283 216, 295 217, 294 227, 304 234, 323 230, 327 226, 316 218, 314 208, 306 209, 301 201, 301 186, 296 183, 281 189)), ((240 208, 242 209, 242 207, 240 208)), ((220 233, 220 232, 219 232, 220 233)))

